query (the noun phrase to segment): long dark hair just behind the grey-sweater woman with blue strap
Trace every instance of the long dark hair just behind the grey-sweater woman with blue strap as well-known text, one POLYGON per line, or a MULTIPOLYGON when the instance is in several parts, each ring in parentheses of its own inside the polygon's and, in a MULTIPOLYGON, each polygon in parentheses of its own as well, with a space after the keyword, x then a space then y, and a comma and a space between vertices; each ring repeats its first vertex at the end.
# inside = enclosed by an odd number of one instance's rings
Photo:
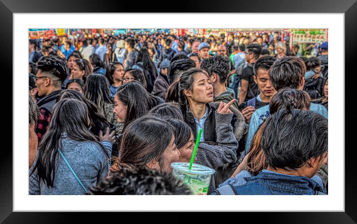
POLYGON ((97 139, 99 139, 100 130, 105 132, 105 129, 110 127, 108 120, 98 112, 97 107, 91 101, 87 100, 81 93, 75 90, 64 90, 58 95, 57 102, 62 99, 76 99, 87 106, 92 126, 90 131, 97 137, 97 139))

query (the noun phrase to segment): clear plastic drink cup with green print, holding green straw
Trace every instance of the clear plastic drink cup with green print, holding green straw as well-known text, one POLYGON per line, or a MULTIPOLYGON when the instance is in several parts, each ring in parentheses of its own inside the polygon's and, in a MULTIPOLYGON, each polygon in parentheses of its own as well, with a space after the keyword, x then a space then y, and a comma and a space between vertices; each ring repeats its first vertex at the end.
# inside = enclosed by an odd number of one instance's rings
POLYGON ((216 172, 206 166, 193 164, 191 170, 188 169, 189 163, 172 163, 173 174, 184 181, 191 189, 193 195, 206 195, 211 176, 216 172))

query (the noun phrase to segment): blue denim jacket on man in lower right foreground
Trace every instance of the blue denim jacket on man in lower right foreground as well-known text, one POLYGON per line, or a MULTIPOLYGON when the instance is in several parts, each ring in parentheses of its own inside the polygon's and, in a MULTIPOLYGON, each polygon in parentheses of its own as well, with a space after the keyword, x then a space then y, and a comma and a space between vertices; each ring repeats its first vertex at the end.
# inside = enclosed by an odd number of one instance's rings
POLYGON ((235 186, 238 195, 314 195, 323 189, 308 177, 292 176, 263 170, 255 177, 246 177, 247 183, 235 186))

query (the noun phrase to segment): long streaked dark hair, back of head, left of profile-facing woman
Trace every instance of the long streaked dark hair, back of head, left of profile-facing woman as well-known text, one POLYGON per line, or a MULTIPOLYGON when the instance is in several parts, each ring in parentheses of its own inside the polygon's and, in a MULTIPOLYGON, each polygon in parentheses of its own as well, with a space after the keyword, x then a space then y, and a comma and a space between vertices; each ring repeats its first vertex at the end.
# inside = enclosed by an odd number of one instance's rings
POLYGON ((84 85, 84 96, 92 101, 98 109, 103 108, 104 103, 113 104, 109 81, 100 74, 90 75, 84 85))

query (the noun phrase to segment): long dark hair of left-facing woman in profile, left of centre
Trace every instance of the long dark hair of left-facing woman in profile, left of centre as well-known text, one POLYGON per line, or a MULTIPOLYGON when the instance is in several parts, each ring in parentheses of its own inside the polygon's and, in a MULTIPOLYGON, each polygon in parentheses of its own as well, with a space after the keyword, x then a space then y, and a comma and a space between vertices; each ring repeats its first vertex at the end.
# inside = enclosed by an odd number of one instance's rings
POLYGON ((115 97, 128 106, 124 128, 129 121, 145 115, 149 110, 148 93, 137 82, 130 82, 120 86, 115 97))

